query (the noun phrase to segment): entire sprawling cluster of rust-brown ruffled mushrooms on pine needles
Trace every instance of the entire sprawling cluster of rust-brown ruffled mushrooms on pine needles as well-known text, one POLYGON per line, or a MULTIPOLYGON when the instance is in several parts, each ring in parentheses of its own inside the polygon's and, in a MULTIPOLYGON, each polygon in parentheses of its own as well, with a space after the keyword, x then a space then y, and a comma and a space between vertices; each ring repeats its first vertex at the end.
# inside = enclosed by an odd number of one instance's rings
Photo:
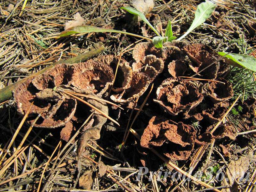
MULTIPOLYGON (((228 100, 233 97, 232 85, 221 78, 229 68, 228 63, 214 50, 204 44, 183 41, 164 43, 162 49, 157 49, 146 42, 134 47, 132 57, 130 62, 123 58, 118 61, 114 55, 103 55, 83 63, 58 64, 17 86, 14 91, 17 110, 24 115, 33 102, 28 122, 32 124, 40 115, 35 126, 63 127, 61 137, 68 140, 75 124, 83 122, 89 111, 84 103, 68 93, 80 93, 77 97, 108 115, 105 102, 81 94, 103 98, 110 91, 111 100, 130 105, 136 98, 143 98, 148 86, 154 83, 156 96, 152 105, 160 107, 163 115, 150 116, 141 137, 142 147, 157 147, 170 159, 186 160, 196 146, 205 145, 212 139, 235 138, 232 124, 223 125, 222 133, 210 132, 212 124, 220 121, 228 109, 228 100), (191 75, 204 81, 182 78, 191 75), (203 128, 195 128, 189 121, 203 122, 203 128)), ((92 126, 98 130, 93 134, 97 136, 92 137, 92 132, 87 132, 83 138, 99 139, 106 120, 95 112, 92 126)))

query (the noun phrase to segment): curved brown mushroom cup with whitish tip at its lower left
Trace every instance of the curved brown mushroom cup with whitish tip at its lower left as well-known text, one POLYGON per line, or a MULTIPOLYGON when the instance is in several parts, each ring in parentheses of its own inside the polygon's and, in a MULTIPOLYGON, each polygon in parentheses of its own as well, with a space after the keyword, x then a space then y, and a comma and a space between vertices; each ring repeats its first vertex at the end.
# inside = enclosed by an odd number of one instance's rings
POLYGON ((115 102, 127 103, 135 98, 140 97, 147 89, 150 84, 150 78, 143 72, 133 72, 131 87, 125 89, 124 92, 117 95, 111 95, 110 98, 115 102))

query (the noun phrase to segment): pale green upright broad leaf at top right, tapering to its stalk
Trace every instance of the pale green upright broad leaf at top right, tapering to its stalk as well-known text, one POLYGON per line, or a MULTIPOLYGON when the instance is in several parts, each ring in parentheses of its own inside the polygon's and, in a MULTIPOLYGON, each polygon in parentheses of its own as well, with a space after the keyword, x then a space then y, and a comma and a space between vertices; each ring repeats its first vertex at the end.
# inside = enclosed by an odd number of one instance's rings
POLYGON ((191 31, 193 31, 195 28, 197 28, 199 25, 201 25, 204 21, 206 21, 209 17, 211 17, 212 12, 215 10, 215 4, 213 4, 210 1, 200 3, 197 6, 196 12, 195 12, 195 19, 193 20, 190 28, 188 31, 178 38, 177 40, 180 41, 185 36, 187 36, 191 31))

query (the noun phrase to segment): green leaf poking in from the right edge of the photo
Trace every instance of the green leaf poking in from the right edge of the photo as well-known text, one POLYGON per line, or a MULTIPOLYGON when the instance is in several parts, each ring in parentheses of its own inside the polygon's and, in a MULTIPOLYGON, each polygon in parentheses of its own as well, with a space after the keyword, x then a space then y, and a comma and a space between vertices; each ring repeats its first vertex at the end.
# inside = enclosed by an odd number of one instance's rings
POLYGON ((220 56, 224 56, 226 60, 233 61, 244 68, 256 72, 256 59, 249 55, 240 55, 236 53, 218 52, 220 56))

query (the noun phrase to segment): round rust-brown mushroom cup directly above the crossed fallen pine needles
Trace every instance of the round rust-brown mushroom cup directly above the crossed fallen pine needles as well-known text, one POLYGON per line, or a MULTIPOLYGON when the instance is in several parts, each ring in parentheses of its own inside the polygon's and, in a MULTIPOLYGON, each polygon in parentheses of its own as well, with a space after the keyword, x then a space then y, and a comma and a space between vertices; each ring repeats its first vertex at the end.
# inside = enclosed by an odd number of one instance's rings
POLYGON ((113 70, 107 64, 97 61, 87 61, 72 66, 71 84, 82 90, 91 90, 102 96, 113 83, 113 70))

